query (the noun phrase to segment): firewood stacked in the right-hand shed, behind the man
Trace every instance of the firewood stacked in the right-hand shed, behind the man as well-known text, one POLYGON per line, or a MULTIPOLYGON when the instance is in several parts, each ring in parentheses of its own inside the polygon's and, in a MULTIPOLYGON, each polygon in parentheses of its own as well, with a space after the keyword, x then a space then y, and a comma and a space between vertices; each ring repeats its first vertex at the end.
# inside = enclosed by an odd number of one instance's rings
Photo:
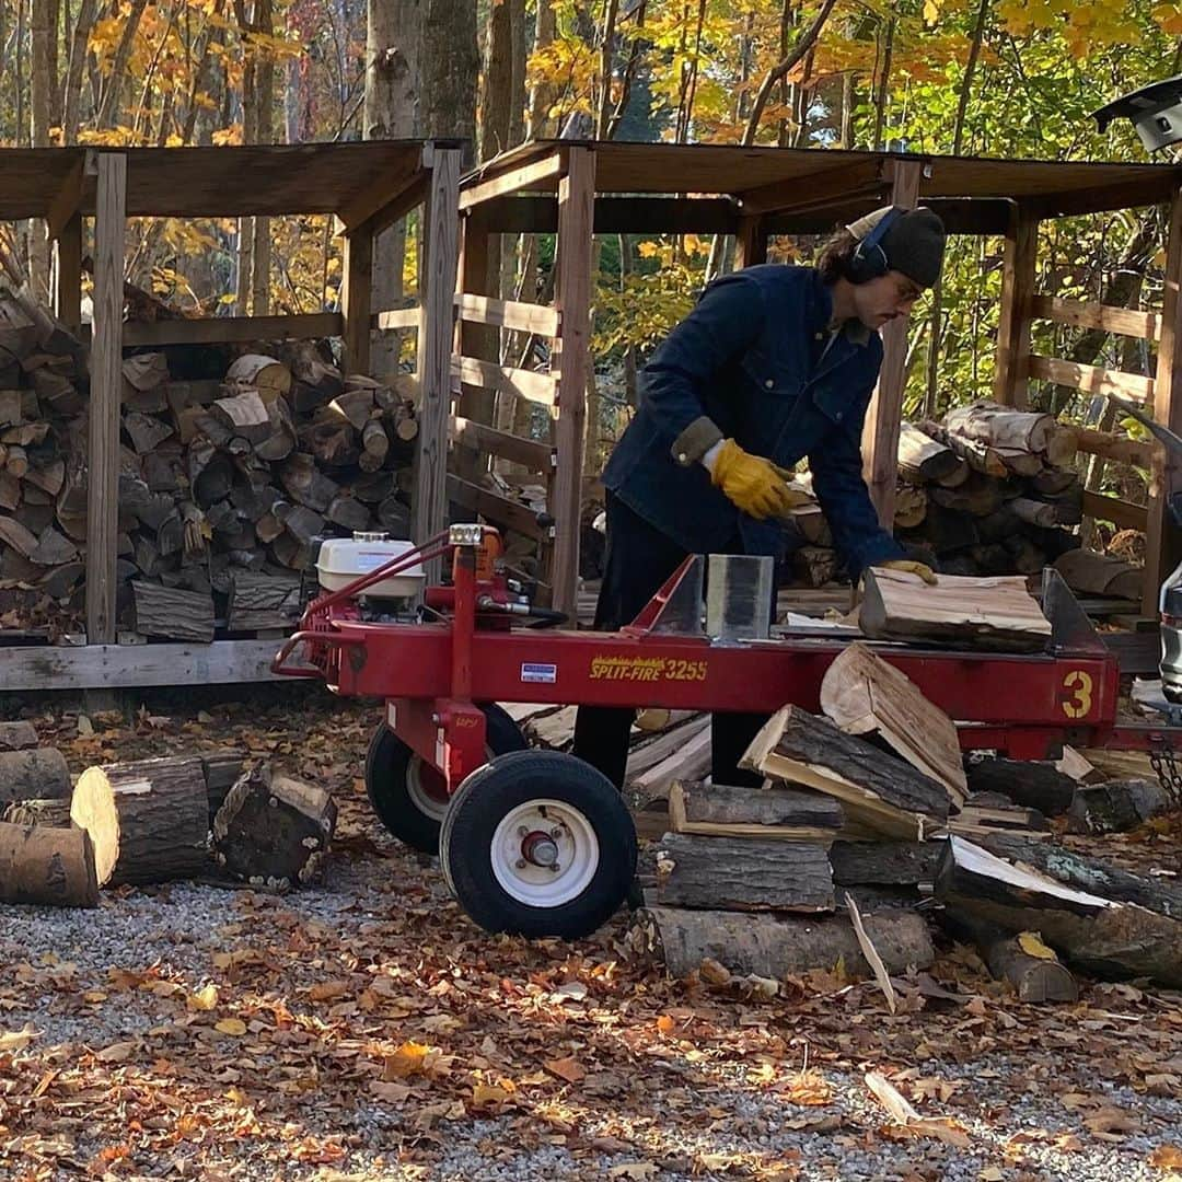
MULTIPOLYGON (((1074 452, 1074 433, 1053 416, 992 403, 949 411, 940 423, 904 423, 895 534, 949 574, 1031 576, 1063 559, 1074 590, 1135 599, 1135 567, 1116 570, 1091 554, 1064 558, 1080 545, 1074 527, 1084 489, 1074 452)), ((793 573, 820 586, 839 566, 829 525, 819 507, 798 512, 794 525, 805 545, 793 573)))

